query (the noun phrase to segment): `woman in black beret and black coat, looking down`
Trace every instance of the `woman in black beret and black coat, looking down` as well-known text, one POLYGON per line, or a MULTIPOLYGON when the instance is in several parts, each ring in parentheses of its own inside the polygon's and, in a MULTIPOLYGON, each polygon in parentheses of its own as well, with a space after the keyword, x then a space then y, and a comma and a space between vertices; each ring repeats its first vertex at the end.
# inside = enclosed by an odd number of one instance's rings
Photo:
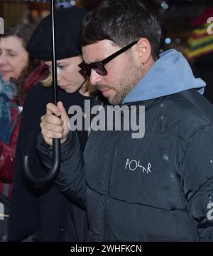
MULTIPOLYGON (((91 108, 102 104, 95 87, 90 86, 86 75, 78 66, 82 62, 78 34, 85 13, 82 9, 59 9, 55 16, 58 100, 62 101, 67 112, 70 106, 79 106, 84 110, 85 100, 90 102, 91 108)), ((50 28, 48 16, 35 29, 28 43, 28 51, 45 61, 51 72, 50 28)), ((33 233, 33 240, 38 241, 84 241, 84 210, 67 200, 53 183, 35 188, 22 175, 23 155, 31 156, 33 173, 45 173, 35 145, 40 133, 40 118, 45 114, 47 103, 53 101, 51 84, 52 77, 49 76, 43 81, 43 85, 36 86, 29 93, 24 106, 9 220, 10 241, 24 240, 33 233)), ((87 118, 83 113, 83 123, 87 118)), ((77 130, 77 133, 84 148, 89 131, 77 130)))

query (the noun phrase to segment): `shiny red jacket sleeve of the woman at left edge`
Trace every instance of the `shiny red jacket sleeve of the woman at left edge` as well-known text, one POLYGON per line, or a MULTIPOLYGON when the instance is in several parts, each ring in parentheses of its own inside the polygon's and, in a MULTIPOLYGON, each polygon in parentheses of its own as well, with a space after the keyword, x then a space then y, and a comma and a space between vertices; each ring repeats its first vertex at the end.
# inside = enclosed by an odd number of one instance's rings
POLYGON ((13 183, 13 165, 20 123, 21 116, 18 117, 9 145, 0 141, 0 180, 4 183, 13 183))

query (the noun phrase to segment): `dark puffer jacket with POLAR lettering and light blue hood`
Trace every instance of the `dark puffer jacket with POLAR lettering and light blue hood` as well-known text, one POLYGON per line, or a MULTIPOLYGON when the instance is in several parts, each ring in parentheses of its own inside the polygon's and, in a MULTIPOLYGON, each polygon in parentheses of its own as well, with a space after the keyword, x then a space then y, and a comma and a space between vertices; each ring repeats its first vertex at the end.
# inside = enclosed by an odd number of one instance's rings
MULTIPOLYGON (((180 53, 168 55, 124 100, 145 106, 143 138, 133 139, 133 130, 93 131, 84 155, 75 132, 62 144, 56 183, 87 209, 88 241, 213 241, 213 106, 195 89, 204 83, 192 73, 187 88, 190 69, 180 53), (176 75, 160 83, 167 61, 176 75), (143 98, 147 85, 159 90, 149 87, 143 98)), ((41 139, 38 150, 50 168, 52 153, 41 139)))

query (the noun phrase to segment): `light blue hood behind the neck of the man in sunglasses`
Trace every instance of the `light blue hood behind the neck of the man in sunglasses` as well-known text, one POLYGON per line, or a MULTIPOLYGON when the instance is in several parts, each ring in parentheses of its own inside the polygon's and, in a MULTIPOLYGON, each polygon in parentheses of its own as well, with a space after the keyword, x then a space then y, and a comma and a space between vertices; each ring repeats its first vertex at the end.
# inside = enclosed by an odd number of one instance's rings
POLYGON ((206 83, 200 78, 195 78, 182 53, 176 50, 160 53, 160 58, 146 73, 141 81, 124 98, 124 103, 147 101, 192 88, 200 88, 204 93, 206 83))

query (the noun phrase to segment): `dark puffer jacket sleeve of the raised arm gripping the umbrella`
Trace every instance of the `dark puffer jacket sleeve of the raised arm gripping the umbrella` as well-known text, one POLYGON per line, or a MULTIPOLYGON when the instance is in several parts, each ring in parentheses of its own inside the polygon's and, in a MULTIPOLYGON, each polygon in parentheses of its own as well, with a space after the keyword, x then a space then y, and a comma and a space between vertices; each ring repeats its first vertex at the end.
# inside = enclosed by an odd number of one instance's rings
MULTIPOLYGON (((45 144, 42 135, 38 135, 37 148, 40 160, 47 169, 50 169, 53 152, 45 144)), ((76 132, 70 133, 65 143, 61 145, 61 165, 55 184, 72 203, 85 210, 84 158, 76 132)))

